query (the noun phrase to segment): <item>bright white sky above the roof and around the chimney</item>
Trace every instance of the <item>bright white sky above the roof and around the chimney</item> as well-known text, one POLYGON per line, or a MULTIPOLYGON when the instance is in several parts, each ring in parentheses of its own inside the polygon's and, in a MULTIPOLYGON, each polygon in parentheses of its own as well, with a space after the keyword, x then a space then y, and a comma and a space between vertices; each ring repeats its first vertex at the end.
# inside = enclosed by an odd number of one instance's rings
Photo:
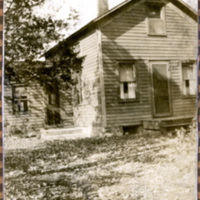
MULTIPOLYGON (((108 0, 109 9, 125 0, 108 0)), ((182 0, 197 10, 197 0, 182 0)), ((64 19, 70 13, 70 7, 79 13, 79 22, 75 28, 66 34, 69 35, 97 17, 97 0, 46 0, 42 8, 37 9, 39 15, 52 15, 56 19, 64 19)))

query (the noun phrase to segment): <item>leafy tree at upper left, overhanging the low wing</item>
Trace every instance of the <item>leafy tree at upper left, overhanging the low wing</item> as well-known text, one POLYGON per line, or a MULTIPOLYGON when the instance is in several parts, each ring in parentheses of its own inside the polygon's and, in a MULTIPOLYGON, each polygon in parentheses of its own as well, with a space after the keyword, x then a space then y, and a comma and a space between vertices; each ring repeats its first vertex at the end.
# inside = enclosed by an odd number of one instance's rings
POLYGON ((73 84, 73 71, 81 69, 82 58, 73 47, 61 42, 57 56, 46 62, 37 59, 49 44, 63 39, 61 30, 69 28, 69 20, 76 22, 78 13, 71 9, 66 20, 36 16, 34 9, 45 0, 7 0, 5 2, 5 76, 16 82, 36 79, 43 85, 54 82, 61 86, 73 84), (59 55, 59 56, 58 56, 59 55))

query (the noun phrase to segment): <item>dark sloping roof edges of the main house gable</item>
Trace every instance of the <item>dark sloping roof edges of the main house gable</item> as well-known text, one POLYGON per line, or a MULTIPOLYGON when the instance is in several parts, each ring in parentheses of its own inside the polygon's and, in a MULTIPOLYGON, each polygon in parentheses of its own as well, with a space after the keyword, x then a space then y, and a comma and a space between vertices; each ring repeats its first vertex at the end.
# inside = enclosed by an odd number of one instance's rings
MULTIPOLYGON (((101 23, 106 18, 112 17, 114 14, 116 14, 123 8, 128 7, 132 2, 136 3, 139 1, 141 0, 126 0, 122 2, 121 4, 115 6, 114 8, 108 10, 105 14, 96 17, 95 19, 87 23, 85 26, 83 26, 82 28, 80 28, 79 30, 71 34, 69 37, 67 37, 66 39, 64 39, 63 41, 59 42, 57 45, 52 47, 50 50, 45 52, 44 56, 47 56, 47 57, 51 56, 52 54, 56 52, 57 48, 59 48, 60 43, 63 43, 63 42, 67 44, 72 43, 75 38, 77 39, 83 33, 97 28, 98 24, 101 23)), ((179 7, 181 10, 183 10, 185 13, 187 13, 192 19, 194 19, 195 21, 198 21, 197 12, 194 9, 192 9, 188 4, 186 4, 183 0, 170 0, 170 1, 173 4, 175 4, 177 7, 179 7)))

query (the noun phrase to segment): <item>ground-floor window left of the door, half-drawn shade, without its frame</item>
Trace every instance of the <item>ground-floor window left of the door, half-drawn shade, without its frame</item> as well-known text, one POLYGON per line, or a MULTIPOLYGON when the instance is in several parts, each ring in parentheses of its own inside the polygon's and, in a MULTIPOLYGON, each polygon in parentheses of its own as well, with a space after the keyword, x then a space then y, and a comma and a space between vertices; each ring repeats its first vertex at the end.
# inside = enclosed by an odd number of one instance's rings
POLYGON ((120 64, 120 99, 136 99, 136 69, 133 64, 120 64))

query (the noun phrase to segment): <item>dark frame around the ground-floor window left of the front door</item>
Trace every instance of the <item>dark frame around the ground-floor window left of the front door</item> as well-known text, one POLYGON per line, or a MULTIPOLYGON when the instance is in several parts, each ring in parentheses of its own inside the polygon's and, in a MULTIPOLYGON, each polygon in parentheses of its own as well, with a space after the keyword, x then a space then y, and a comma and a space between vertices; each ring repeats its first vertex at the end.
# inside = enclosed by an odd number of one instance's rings
POLYGON ((118 65, 118 101, 120 103, 123 103, 123 102, 138 102, 139 101, 139 92, 138 92, 138 69, 137 69, 137 64, 136 64, 136 61, 133 61, 133 60, 123 60, 123 61, 118 61, 117 62, 117 65, 118 65), (136 91, 135 91, 135 94, 136 94, 136 98, 126 98, 126 99, 122 99, 121 98, 121 81, 120 81, 120 65, 132 65, 132 69, 135 68, 135 82, 136 83, 136 91))

